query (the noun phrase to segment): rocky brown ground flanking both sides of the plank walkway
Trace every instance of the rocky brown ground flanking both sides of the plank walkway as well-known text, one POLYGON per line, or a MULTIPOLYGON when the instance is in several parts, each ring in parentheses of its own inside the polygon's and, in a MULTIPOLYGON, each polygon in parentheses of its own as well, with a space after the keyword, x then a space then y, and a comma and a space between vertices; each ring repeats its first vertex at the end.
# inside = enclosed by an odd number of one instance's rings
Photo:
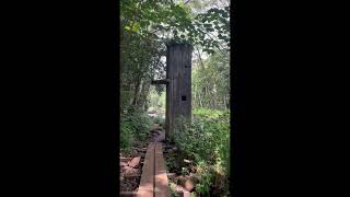
POLYGON ((196 167, 192 162, 184 159, 175 144, 165 141, 165 131, 162 126, 154 124, 147 141, 136 141, 129 152, 120 152, 120 192, 137 192, 147 152, 150 142, 163 142, 163 155, 167 169, 167 177, 172 196, 196 190, 196 167))

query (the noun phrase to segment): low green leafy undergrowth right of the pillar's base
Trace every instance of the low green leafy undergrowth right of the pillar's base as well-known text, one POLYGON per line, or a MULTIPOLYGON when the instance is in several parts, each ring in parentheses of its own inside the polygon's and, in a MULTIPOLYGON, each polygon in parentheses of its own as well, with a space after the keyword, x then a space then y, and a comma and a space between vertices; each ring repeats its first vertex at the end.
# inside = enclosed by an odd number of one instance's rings
POLYGON ((178 126, 182 130, 177 130, 174 140, 198 166, 198 192, 208 194, 218 177, 228 178, 230 113, 205 108, 194 112, 192 124, 178 126))

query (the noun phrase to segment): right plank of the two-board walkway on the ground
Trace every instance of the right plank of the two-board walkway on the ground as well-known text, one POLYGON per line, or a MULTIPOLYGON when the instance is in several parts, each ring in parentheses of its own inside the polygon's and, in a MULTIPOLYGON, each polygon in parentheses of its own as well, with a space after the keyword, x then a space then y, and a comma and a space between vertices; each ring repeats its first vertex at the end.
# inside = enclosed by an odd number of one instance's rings
POLYGON ((154 183, 154 196, 155 197, 168 197, 168 181, 166 174, 165 161, 163 158, 162 143, 155 143, 155 183, 154 183))

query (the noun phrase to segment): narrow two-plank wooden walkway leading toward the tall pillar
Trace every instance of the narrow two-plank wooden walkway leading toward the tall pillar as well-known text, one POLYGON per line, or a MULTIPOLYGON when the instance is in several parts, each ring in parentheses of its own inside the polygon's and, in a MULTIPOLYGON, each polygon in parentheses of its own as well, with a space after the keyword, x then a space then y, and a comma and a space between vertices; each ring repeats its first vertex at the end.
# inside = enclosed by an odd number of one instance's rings
POLYGON ((151 142, 144 155, 138 197, 168 197, 168 181, 160 142, 151 142))

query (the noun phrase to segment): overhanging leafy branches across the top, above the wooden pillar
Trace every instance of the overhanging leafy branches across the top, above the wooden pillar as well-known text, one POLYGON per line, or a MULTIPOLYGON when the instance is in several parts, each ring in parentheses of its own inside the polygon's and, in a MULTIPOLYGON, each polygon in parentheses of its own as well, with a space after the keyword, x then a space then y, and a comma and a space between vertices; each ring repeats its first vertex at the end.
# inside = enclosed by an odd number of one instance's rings
POLYGON ((194 15, 188 5, 173 1, 122 0, 120 12, 122 30, 129 33, 138 33, 143 37, 152 34, 165 40, 188 42, 205 47, 207 51, 213 51, 219 47, 230 49, 229 7, 212 8, 194 15))

